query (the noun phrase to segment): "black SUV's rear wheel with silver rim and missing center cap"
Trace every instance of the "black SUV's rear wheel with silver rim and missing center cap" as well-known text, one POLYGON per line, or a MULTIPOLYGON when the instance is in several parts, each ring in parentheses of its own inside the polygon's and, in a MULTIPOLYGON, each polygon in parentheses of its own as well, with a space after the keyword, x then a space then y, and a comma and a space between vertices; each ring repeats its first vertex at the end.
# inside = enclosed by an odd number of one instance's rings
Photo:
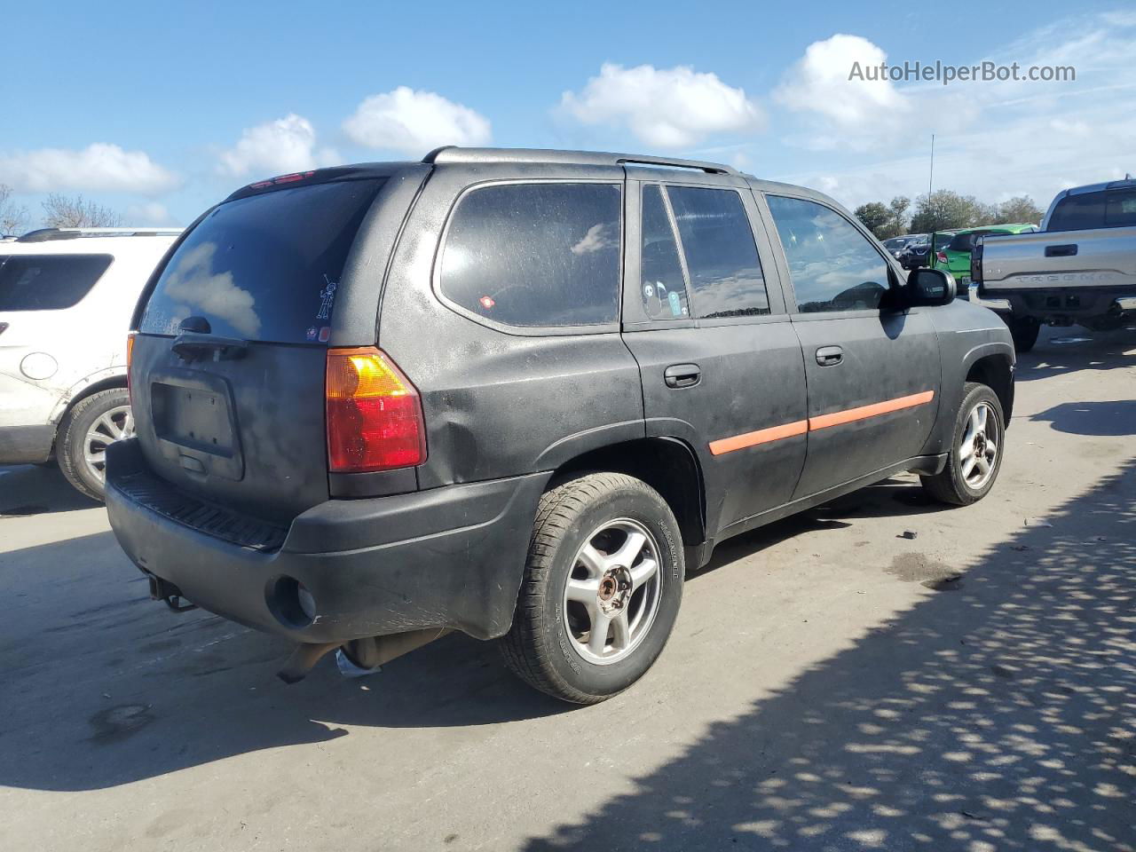
POLYGON ((541 498, 504 661, 562 701, 609 699, 661 653, 683 576, 678 524, 657 491, 624 474, 566 482, 541 498))

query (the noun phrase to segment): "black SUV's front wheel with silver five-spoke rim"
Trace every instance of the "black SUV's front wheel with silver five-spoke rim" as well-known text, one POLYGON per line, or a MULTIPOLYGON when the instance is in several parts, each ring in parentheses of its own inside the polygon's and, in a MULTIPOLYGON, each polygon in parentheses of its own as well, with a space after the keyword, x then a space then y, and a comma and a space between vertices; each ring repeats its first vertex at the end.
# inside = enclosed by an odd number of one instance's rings
POLYGON ((967 382, 946 466, 935 476, 920 477, 924 488, 942 503, 977 503, 994 487, 1004 443, 1005 421, 997 394, 984 384, 967 382))

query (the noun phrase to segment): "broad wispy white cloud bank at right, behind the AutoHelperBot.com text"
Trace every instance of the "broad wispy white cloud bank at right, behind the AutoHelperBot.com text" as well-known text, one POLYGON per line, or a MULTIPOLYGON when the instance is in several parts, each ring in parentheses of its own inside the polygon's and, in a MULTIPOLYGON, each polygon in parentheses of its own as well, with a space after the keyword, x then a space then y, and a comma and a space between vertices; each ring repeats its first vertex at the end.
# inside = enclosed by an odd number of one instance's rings
MULTIPOLYGON (((854 36, 834 36, 818 44, 844 37, 854 36)), ((854 53, 833 62, 837 67, 850 64, 854 53)), ((1136 15, 1086 15, 1029 31, 994 56, 959 60, 1018 62, 1024 69, 1072 65, 1076 82, 921 83, 889 85, 889 93, 857 94, 842 90, 840 81, 829 75, 832 87, 810 90, 803 126, 793 130, 787 141, 875 156, 837 159, 833 153, 825 162, 818 161, 817 168, 807 165, 780 177, 824 189, 847 207, 896 194, 913 199, 927 191, 929 137, 935 133, 935 189, 972 194, 986 202, 1028 194, 1044 209, 1061 189, 1116 179, 1126 170, 1136 170, 1131 156, 1136 112, 1119 108, 1131 102, 1136 93, 1134 53, 1136 15), (835 100, 855 103, 857 111, 827 105, 835 100), (952 109, 959 101, 966 101, 963 108, 952 109), (905 116, 902 127, 888 124, 896 103, 908 105, 899 107, 905 116), (876 127, 885 132, 878 133, 876 127)), ((869 61, 880 61, 878 56, 870 56, 869 61)), ((802 62, 808 58, 807 53, 802 62)), ((800 70, 801 64, 794 66, 778 99, 785 97, 784 91, 800 92, 793 86, 810 78, 802 77, 800 70)))

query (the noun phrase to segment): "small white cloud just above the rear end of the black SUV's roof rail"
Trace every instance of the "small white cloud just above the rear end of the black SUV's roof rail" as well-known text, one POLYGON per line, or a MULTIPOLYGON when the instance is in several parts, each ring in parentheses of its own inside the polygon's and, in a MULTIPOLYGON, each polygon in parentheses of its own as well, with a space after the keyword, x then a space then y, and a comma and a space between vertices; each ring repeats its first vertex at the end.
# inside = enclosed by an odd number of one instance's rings
POLYGON ((484 145, 492 139, 485 116, 409 86, 366 98, 343 122, 343 132, 367 148, 417 154, 438 145, 484 145))

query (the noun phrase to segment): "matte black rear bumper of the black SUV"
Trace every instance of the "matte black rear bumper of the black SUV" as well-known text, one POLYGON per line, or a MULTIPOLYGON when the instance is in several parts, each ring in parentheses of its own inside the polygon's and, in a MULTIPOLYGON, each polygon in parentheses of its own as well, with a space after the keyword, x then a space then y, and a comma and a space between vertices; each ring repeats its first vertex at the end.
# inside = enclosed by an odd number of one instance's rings
MULTIPOLYGON (((292 521, 275 552, 224 541, 131 496, 136 441, 107 456, 107 511, 144 573, 193 603, 296 642, 346 642, 451 627, 477 638, 512 621, 536 504, 549 474, 362 500, 329 500, 292 521), (298 619, 294 582, 315 600, 298 619)), ((141 471, 144 474, 144 471, 141 471)))

